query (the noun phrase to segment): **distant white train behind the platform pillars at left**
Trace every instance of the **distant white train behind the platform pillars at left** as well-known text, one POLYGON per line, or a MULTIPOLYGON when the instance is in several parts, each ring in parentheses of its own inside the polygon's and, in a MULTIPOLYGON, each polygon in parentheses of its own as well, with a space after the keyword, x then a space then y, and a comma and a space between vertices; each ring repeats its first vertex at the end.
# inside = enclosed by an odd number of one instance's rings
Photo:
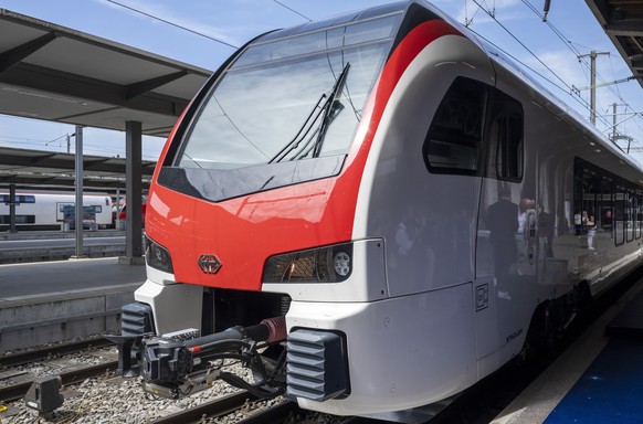
MULTIPOLYGON (((0 192, 0 230, 9 230, 11 194, 0 192)), ((64 230, 75 225, 76 195, 70 192, 22 192, 14 194, 15 229, 64 230)), ((112 197, 106 193, 83 194, 84 225, 92 229, 113 227, 112 197)))

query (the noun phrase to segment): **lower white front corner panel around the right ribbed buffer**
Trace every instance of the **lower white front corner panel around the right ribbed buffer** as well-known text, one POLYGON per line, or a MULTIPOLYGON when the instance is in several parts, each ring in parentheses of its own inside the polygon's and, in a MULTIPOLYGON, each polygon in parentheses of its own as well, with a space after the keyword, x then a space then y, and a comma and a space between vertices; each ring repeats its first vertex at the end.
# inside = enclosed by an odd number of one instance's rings
POLYGON ((461 392, 477 381, 472 304, 471 284, 375 303, 293 303, 289 328, 349 333, 348 354, 355 358, 350 401, 299 404, 354 415, 405 410, 461 392))

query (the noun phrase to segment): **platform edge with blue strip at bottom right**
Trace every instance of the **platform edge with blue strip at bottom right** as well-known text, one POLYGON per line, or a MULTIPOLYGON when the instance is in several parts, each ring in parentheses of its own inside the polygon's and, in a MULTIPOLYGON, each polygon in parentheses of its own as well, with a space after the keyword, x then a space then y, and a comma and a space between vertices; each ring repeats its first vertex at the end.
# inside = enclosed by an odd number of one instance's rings
POLYGON ((492 424, 643 423, 643 279, 492 424))

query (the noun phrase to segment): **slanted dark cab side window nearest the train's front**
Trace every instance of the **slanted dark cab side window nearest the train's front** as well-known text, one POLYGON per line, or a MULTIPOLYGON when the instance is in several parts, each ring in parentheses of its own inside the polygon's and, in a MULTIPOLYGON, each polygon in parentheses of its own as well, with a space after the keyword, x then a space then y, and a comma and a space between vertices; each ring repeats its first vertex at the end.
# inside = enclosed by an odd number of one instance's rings
POLYGON ((429 171, 477 173, 487 93, 488 86, 477 81, 458 77, 453 82, 424 139, 429 171))

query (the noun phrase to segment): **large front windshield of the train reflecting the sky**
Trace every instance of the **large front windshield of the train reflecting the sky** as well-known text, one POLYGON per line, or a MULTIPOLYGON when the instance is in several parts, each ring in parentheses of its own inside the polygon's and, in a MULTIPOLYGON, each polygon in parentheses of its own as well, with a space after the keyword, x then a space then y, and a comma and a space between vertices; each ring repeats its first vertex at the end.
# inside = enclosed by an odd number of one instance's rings
POLYGON ((251 44, 209 94, 175 167, 239 170, 344 157, 399 18, 251 44))

